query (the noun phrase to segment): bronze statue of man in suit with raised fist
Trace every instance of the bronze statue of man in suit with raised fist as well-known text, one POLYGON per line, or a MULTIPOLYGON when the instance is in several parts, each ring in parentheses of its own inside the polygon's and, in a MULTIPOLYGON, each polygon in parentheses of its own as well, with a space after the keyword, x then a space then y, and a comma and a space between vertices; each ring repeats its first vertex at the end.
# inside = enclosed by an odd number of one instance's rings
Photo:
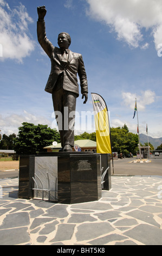
POLYGON ((85 65, 81 54, 69 50, 71 38, 68 33, 62 32, 59 34, 57 43, 60 48, 51 44, 46 36, 44 22, 44 16, 47 13, 46 7, 38 7, 37 13, 38 42, 51 60, 51 72, 45 90, 51 93, 53 98, 55 117, 61 138, 62 149, 60 151, 72 151, 74 147, 76 97, 79 96, 77 74, 80 78, 82 99, 85 98, 83 103, 86 103, 88 99, 85 65), (65 109, 66 114, 64 113, 65 109), (61 113, 61 120, 58 119, 58 113, 61 113))

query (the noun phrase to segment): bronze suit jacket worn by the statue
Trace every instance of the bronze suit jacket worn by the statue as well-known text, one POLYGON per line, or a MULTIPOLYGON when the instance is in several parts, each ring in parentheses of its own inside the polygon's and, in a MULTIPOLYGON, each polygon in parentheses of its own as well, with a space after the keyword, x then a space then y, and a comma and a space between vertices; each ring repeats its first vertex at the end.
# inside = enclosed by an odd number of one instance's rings
POLYGON ((88 93, 87 75, 82 55, 69 50, 68 62, 65 66, 61 64, 59 54, 60 48, 54 47, 47 39, 45 22, 37 22, 38 42, 43 50, 48 54, 51 60, 51 72, 46 84, 46 92, 52 93, 58 76, 63 72, 63 89, 76 93, 79 96, 79 86, 77 83, 77 74, 80 78, 81 93, 88 93))

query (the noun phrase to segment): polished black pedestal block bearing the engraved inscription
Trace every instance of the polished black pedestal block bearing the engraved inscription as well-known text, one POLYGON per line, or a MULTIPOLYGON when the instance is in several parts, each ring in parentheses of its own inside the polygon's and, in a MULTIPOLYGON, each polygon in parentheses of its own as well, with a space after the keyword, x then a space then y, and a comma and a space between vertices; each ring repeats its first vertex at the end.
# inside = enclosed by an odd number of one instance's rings
POLYGON ((75 204, 100 198, 100 156, 96 154, 59 156, 58 202, 75 204))

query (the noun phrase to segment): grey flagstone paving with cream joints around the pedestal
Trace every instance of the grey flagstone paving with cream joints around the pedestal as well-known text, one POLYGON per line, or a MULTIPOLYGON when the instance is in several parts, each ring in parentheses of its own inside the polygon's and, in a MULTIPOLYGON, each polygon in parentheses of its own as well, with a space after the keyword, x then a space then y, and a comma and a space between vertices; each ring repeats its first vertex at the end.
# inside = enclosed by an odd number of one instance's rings
POLYGON ((0 245, 162 245, 161 178, 112 176, 99 201, 72 205, 18 199, 18 179, 1 179, 0 245))

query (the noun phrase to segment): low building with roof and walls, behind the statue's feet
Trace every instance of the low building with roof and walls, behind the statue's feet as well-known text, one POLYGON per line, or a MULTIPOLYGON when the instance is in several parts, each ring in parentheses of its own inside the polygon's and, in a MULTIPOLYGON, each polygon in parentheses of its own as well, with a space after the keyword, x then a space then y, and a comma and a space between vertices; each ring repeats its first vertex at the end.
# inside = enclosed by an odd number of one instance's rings
MULTIPOLYGON (((90 141, 90 139, 78 139, 77 141, 74 142, 74 148, 75 148, 75 145, 79 146, 79 148, 83 152, 93 151, 94 153, 96 153, 96 142, 90 141)), ((73 151, 75 151, 74 148, 73 148, 73 151)), ((50 146, 44 147, 43 149, 47 149, 47 152, 59 151, 59 149, 61 149, 61 143, 58 143, 56 146, 50 145, 50 146)))

